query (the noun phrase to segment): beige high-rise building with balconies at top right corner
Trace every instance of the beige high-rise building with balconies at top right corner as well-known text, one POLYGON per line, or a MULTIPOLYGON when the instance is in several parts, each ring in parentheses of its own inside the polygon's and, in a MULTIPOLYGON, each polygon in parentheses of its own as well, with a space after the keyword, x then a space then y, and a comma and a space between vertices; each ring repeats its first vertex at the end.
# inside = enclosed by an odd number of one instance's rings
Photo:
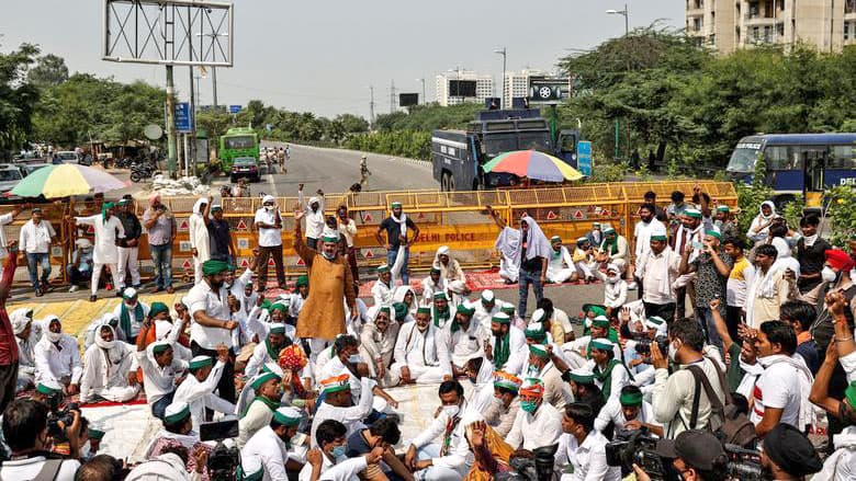
POLYGON ((728 54, 800 42, 821 51, 856 44, 856 0, 686 0, 687 35, 728 54))

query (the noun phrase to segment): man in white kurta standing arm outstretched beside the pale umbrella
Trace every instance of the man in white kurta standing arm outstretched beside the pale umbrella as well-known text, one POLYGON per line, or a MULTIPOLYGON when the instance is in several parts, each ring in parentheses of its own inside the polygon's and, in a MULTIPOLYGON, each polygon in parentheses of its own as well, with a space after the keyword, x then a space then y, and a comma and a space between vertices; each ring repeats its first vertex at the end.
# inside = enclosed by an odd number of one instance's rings
POLYGON ((108 283, 108 289, 115 285, 116 296, 122 296, 124 279, 119 276, 119 247, 117 241, 125 238, 125 228, 119 217, 113 215, 113 203, 108 202, 101 208, 101 214, 89 217, 75 217, 76 226, 91 226, 95 232, 94 250, 92 252, 92 291, 89 300, 98 300, 98 283, 101 280, 101 271, 106 265, 110 267, 112 283, 108 283))

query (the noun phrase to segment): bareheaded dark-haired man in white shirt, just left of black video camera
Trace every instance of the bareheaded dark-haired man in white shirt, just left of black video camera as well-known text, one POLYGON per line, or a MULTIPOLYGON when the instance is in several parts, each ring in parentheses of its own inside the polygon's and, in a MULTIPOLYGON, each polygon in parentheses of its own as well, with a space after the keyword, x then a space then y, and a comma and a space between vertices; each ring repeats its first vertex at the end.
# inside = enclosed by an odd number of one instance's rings
POLYGON ((595 430, 595 412, 590 405, 573 402, 565 406, 562 432, 554 465, 562 481, 621 479, 621 469, 607 465, 608 440, 595 430))

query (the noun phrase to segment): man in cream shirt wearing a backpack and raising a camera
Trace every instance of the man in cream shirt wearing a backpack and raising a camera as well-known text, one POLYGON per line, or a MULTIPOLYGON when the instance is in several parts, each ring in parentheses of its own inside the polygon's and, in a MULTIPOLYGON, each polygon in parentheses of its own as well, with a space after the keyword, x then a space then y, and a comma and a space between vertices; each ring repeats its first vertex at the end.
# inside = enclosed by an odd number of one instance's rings
POLYGON ((684 431, 707 427, 713 412, 706 390, 696 389, 691 366, 696 366, 710 379, 713 392, 723 404, 725 392, 719 382, 719 366, 701 354, 705 334, 697 322, 691 319, 673 322, 668 330, 668 359, 656 343, 651 344, 651 363, 656 369, 651 405, 654 408, 654 419, 665 427, 663 436, 674 439, 684 431), (676 366, 672 374, 668 371, 669 360, 676 366), (699 399, 694 403, 696 397, 699 399))

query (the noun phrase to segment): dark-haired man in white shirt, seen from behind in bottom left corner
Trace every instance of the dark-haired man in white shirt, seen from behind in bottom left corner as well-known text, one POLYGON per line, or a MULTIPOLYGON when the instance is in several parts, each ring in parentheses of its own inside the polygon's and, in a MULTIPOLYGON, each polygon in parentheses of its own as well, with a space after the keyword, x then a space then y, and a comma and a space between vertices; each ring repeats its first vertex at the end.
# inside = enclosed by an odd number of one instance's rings
POLYGON ((80 411, 71 411, 71 415, 69 425, 65 421, 57 423, 71 446, 72 459, 63 459, 50 453, 54 440, 48 433, 48 408, 32 399, 12 401, 3 412, 3 437, 12 454, 3 461, 0 479, 74 481, 80 467, 74 459, 78 455, 80 411))

